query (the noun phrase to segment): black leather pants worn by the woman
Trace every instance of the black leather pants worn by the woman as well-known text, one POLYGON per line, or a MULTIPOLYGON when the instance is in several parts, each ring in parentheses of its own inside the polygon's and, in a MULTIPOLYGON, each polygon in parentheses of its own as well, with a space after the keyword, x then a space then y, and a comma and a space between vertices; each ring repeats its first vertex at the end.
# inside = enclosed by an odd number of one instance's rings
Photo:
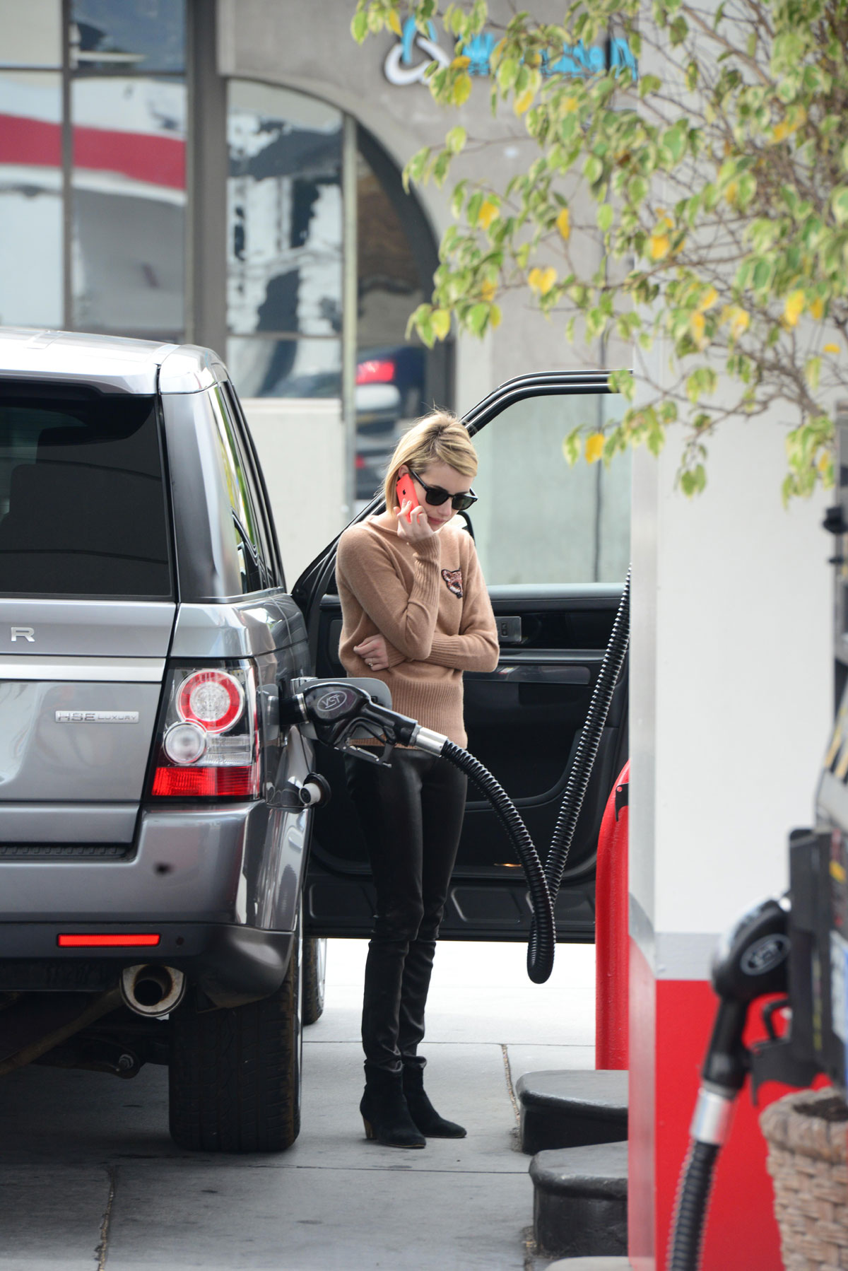
POLYGON ((420 750, 395 750, 390 768, 346 764, 376 887, 362 1003, 366 1071, 399 1073, 425 1064, 417 1047, 468 782, 420 750))

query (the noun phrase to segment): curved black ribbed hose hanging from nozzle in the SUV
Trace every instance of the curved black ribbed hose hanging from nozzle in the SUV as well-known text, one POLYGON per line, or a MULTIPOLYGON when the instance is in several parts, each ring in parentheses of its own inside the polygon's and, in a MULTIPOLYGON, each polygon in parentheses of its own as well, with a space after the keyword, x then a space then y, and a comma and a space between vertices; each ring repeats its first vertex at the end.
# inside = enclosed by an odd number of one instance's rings
POLYGON ((478 759, 469 755, 462 746, 453 741, 446 741, 441 747, 444 759, 459 768, 475 785, 483 791, 489 801, 501 825, 512 840, 519 854, 524 877, 528 881, 530 902, 533 905, 533 928, 528 944, 528 975, 534 984, 544 984, 553 970, 553 953, 557 933, 553 925, 553 902, 544 869, 533 845, 533 839, 526 825, 519 816, 512 802, 507 798, 502 785, 492 777, 487 768, 483 768, 478 759))

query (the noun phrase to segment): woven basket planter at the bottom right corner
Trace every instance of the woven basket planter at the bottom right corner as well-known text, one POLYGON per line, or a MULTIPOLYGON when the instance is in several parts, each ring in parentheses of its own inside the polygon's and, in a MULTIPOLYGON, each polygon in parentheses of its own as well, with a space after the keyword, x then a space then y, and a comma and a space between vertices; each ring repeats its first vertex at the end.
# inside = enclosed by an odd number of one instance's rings
POLYGON ((786 1271, 848 1271, 848 1106, 795 1091, 760 1116, 786 1271))

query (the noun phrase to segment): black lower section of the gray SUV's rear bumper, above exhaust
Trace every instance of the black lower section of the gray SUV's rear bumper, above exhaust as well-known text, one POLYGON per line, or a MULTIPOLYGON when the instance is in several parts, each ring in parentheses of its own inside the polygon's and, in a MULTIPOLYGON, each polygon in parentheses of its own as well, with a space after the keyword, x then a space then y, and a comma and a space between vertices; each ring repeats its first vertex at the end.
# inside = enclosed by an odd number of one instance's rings
POLYGON ((184 971, 215 1005, 266 998, 284 981, 292 932, 226 923, 98 923, 98 934, 155 933, 155 947, 60 948, 60 934, 89 934, 92 923, 0 923, 0 991, 103 991, 125 966, 161 962, 184 971))

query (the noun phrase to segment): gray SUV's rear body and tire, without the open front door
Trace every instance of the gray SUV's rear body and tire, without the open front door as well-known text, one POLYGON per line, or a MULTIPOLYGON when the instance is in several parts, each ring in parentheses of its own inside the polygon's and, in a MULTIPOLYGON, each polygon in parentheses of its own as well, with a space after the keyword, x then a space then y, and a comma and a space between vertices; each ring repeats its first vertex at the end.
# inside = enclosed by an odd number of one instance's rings
POLYGON ((0 332, 0 1073, 167 1063, 181 1146, 294 1141, 306 674, 215 355, 0 332))

